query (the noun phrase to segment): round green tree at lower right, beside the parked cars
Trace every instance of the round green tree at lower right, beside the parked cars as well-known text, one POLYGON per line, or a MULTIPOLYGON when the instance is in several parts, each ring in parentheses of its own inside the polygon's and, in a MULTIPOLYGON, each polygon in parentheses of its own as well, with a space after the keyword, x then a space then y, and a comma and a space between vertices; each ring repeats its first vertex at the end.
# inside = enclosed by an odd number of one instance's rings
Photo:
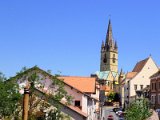
POLYGON ((125 112, 127 120, 145 120, 151 115, 148 102, 145 99, 134 101, 125 112))

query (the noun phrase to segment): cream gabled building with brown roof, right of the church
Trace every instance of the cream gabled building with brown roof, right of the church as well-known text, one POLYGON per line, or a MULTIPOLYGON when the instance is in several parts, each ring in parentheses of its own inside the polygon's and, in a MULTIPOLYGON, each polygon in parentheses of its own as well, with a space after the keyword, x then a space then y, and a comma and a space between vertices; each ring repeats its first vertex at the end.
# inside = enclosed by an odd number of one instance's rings
POLYGON ((148 57, 139 61, 132 72, 128 72, 125 77, 124 99, 125 106, 128 106, 136 98, 136 91, 150 85, 150 76, 158 71, 158 66, 152 59, 148 57))

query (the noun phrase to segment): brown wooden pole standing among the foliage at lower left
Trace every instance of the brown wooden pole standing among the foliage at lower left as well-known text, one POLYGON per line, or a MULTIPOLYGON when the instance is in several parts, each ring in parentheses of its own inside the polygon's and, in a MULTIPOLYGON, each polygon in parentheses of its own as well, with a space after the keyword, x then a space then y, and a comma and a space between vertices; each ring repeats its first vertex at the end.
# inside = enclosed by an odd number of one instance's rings
POLYGON ((23 96, 23 115, 22 120, 28 120, 28 110, 29 110, 29 88, 24 88, 24 96, 23 96))

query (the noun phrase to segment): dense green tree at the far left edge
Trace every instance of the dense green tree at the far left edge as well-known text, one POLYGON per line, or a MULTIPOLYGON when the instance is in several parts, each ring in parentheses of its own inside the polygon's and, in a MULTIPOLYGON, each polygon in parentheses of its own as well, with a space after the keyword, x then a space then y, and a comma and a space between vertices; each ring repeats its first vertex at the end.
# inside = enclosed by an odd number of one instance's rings
POLYGON ((18 85, 0 73, 0 117, 9 119, 16 115, 20 100, 18 85))

